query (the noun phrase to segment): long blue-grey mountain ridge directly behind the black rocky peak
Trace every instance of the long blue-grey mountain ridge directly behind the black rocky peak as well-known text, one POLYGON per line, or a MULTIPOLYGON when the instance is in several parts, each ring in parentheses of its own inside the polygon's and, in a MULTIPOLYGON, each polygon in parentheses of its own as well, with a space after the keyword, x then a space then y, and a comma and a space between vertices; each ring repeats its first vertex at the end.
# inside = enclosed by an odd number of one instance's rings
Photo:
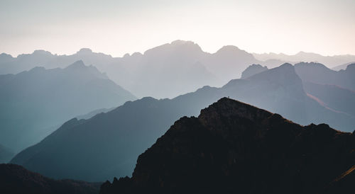
POLYGON ((198 115, 224 96, 280 113, 308 125, 329 122, 354 130, 354 117, 331 110, 307 96, 291 64, 229 81, 222 88, 204 86, 173 99, 141 98, 88 120, 72 119, 43 141, 17 154, 13 164, 52 178, 104 181, 128 176, 136 157, 164 134, 175 120, 198 115))

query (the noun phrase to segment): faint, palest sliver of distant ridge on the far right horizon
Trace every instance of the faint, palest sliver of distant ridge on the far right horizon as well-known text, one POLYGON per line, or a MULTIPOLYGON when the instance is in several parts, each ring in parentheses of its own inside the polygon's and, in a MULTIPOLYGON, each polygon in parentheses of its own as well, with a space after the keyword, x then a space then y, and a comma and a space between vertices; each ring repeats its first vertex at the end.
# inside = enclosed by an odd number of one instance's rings
POLYGON ((355 61, 355 55, 334 55, 323 56, 312 52, 298 52, 296 55, 285 55, 283 53, 253 53, 256 59, 266 61, 268 59, 278 59, 283 62, 297 63, 297 62, 318 62, 325 64, 329 68, 337 67, 341 64, 346 64, 355 61))

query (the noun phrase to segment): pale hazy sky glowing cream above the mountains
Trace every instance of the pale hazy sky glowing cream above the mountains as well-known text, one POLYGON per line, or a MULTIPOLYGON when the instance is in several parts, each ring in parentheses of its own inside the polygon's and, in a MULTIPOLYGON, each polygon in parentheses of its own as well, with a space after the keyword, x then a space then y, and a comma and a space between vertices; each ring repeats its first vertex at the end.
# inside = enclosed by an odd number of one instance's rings
POLYGON ((82 47, 121 57, 173 40, 205 52, 355 55, 355 1, 0 1, 0 53, 14 57, 82 47))

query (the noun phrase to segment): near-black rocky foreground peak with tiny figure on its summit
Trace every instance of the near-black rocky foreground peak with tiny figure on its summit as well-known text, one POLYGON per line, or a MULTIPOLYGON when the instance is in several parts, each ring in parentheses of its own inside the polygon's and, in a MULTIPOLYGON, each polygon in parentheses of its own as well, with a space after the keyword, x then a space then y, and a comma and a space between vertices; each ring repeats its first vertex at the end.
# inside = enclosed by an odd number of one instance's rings
POLYGON ((131 178, 106 182, 101 193, 352 192, 354 149, 349 132, 222 98, 176 121, 138 157, 131 178), (343 173, 349 180, 339 186, 343 173))

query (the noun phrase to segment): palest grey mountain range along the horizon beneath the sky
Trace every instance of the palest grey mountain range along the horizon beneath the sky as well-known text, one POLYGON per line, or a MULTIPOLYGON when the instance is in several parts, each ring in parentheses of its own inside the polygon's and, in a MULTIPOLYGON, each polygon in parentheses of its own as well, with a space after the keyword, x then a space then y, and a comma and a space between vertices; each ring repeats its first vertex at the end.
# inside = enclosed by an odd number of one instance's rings
POLYGON ((232 45, 224 46, 215 53, 208 53, 195 42, 175 40, 146 50, 143 54, 135 52, 123 57, 111 57, 87 48, 73 55, 53 55, 44 50, 18 57, 3 53, 0 55, 0 74, 17 74, 33 67, 63 68, 82 59, 85 64, 94 65, 116 84, 139 98, 174 98, 206 85, 223 86, 231 79, 240 78, 241 72, 250 64, 273 68, 285 62, 317 61, 334 67, 355 61, 353 55, 309 55, 311 54, 300 52, 295 59, 271 54, 266 57, 251 54, 232 45))

